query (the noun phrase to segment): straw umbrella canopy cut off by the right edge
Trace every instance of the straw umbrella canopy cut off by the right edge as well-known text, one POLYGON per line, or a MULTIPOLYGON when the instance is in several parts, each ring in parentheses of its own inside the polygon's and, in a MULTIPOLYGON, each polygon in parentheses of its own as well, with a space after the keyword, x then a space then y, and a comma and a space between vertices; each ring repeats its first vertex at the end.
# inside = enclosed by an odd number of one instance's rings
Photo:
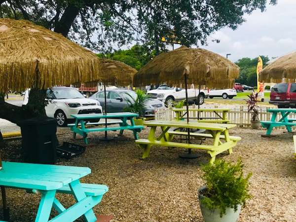
POLYGON ((284 55, 266 66, 259 74, 260 82, 282 82, 296 79, 296 52, 284 55))

